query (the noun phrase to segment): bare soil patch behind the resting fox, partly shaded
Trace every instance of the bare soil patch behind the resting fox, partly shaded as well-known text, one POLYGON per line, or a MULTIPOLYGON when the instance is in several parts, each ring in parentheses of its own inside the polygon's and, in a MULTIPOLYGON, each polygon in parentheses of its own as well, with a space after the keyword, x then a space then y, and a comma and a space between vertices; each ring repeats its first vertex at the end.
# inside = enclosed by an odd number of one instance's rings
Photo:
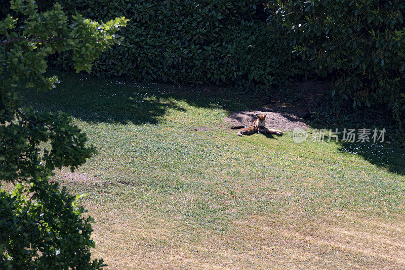
POLYGON ((256 110, 233 112, 225 117, 232 127, 249 126, 256 114, 267 114, 266 127, 281 130, 292 130, 296 127, 306 129, 306 119, 314 113, 317 104, 329 95, 330 82, 299 82, 293 84, 298 93, 298 104, 271 101, 268 105, 256 110))

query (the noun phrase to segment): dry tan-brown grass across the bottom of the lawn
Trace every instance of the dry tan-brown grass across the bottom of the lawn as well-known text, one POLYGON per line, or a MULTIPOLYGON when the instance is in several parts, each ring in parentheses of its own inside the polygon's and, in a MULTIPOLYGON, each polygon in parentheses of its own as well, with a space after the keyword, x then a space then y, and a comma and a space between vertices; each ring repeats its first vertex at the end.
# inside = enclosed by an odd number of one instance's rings
POLYGON ((96 217, 93 254, 103 257, 110 269, 405 267, 404 220, 348 211, 313 218, 293 210, 234 219, 230 230, 221 233, 190 230, 180 215, 156 218, 130 206, 86 207, 96 217))

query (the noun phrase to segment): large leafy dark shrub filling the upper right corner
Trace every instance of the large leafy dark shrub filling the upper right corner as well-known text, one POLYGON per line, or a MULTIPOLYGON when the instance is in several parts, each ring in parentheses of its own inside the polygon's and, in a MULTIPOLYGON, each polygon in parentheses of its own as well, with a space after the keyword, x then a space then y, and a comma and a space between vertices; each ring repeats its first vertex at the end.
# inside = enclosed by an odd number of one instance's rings
POLYGON ((333 94, 354 106, 388 105, 405 119, 405 2, 401 0, 270 1, 270 18, 286 28, 295 53, 333 94))

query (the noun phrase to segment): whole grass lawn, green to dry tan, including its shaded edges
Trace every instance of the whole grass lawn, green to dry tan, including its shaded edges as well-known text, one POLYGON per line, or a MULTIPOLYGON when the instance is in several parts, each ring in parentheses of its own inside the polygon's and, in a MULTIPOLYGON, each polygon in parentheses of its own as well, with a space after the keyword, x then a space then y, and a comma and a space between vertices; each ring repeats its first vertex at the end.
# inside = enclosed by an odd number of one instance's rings
POLYGON ((108 269, 405 268, 403 149, 237 137, 224 117, 261 103, 232 89, 59 78, 24 102, 97 147, 55 178, 87 193, 108 269))

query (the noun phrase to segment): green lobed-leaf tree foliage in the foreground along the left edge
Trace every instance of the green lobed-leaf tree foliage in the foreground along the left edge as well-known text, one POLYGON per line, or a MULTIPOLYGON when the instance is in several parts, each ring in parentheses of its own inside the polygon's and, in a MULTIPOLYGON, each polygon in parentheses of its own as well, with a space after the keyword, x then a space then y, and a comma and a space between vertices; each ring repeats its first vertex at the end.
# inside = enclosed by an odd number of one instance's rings
POLYGON ((97 23, 78 14, 68 19, 59 4, 42 13, 34 2, 10 4, 14 16, 0 21, 0 268, 99 269, 103 260, 90 258, 92 218, 49 181, 55 168, 74 170, 95 149, 67 114, 21 108, 16 88, 55 87, 58 78, 44 73, 56 52, 71 50, 76 71, 90 72, 127 20, 97 23), (15 189, 6 191, 5 182, 15 189))

